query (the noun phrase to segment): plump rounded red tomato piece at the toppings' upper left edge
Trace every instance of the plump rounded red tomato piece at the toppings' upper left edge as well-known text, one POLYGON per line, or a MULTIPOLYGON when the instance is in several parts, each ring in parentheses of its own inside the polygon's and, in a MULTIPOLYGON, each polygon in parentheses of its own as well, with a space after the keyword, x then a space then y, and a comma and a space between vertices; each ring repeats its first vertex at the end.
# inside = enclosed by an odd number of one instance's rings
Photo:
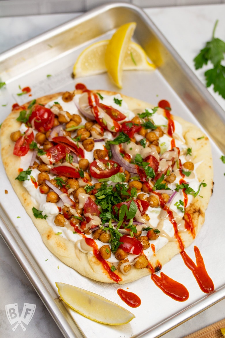
POLYGON ((53 127, 55 115, 49 109, 40 104, 35 104, 29 122, 39 132, 46 132, 53 127))

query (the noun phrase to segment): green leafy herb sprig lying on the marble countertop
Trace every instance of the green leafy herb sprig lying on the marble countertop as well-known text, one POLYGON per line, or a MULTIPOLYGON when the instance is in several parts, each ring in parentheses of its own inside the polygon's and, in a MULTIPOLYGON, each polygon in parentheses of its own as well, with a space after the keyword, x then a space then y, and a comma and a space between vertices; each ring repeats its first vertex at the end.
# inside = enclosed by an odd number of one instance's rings
POLYGON ((218 92, 225 99, 225 66, 221 63, 224 60, 225 42, 215 38, 217 24, 218 20, 213 28, 212 39, 206 42, 205 47, 194 58, 194 65, 196 70, 208 62, 213 65, 213 68, 204 73, 206 87, 213 85, 214 92, 218 92))

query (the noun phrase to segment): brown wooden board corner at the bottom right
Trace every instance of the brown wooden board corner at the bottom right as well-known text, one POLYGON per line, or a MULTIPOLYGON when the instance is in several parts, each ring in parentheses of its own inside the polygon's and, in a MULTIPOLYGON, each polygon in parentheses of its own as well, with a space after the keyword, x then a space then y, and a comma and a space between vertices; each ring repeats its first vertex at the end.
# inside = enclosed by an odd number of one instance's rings
POLYGON ((217 321, 216 323, 185 336, 184 338, 222 338, 223 335, 220 331, 221 328, 225 328, 225 319, 217 321))

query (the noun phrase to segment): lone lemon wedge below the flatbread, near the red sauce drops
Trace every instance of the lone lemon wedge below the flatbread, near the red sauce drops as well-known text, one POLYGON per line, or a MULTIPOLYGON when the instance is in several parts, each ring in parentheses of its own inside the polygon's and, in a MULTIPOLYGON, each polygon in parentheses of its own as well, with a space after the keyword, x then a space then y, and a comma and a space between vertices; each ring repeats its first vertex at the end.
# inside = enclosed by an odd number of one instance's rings
POLYGON ((91 320, 108 325, 122 325, 135 318, 130 311, 93 292, 69 284, 55 284, 62 300, 91 320))

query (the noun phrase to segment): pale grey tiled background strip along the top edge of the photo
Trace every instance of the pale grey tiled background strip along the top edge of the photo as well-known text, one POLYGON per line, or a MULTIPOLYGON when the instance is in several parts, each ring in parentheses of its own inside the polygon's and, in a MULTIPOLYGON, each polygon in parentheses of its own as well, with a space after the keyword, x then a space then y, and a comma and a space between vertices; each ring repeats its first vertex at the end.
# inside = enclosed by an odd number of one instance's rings
MULTIPOLYGON (((113 0, 0 0, 0 17, 83 12, 113 0)), ((225 0, 123 0, 139 7, 161 7, 225 3, 225 0)))

